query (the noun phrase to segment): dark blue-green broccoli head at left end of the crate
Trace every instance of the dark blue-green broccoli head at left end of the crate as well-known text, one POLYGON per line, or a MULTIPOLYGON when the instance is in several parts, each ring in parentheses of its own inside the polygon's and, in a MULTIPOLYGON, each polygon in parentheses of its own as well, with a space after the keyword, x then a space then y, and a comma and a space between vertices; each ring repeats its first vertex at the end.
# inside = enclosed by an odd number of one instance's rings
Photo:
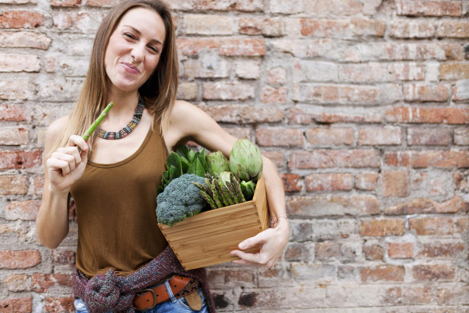
POLYGON ((165 190, 156 197, 158 222, 174 225, 187 217, 199 214, 207 202, 200 189, 192 182, 203 184, 204 178, 194 174, 183 174, 172 179, 165 190))

